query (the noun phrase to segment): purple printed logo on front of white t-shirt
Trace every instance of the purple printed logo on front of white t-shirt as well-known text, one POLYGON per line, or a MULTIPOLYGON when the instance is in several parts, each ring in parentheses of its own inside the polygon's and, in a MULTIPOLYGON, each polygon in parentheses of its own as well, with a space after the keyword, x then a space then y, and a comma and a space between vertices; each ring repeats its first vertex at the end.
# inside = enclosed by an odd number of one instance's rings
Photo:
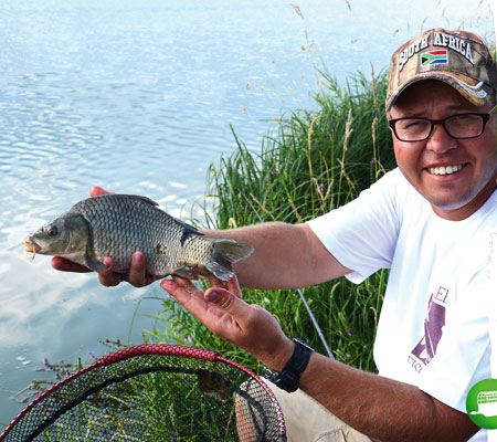
POLYGON ((436 355, 436 348, 444 332, 447 296, 448 288, 442 286, 430 296, 424 319, 424 336, 408 357, 409 365, 417 372, 421 372, 436 355))

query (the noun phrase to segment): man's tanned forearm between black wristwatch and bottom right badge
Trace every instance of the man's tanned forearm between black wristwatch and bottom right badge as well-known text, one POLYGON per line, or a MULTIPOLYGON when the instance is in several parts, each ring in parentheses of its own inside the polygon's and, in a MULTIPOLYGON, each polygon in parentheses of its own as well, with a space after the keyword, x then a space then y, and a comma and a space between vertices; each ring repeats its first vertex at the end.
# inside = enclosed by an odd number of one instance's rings
POLYGON ((380 441, 466 441, 462 413, 419 388, 314 354, 300 388, 356 430, 380 441))

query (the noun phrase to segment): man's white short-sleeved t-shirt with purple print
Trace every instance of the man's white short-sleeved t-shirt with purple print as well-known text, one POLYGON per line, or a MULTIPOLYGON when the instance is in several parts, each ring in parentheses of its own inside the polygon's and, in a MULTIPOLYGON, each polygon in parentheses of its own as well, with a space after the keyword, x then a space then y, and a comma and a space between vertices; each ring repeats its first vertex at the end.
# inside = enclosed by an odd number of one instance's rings
POLYGON ((395 169, 308 222, 355 271, 350 281, 391 269, 374 341, 379 373, 463 412, 473 385, 490 377, 486 266, 496 196, 466 220, 447 221, 395 169))

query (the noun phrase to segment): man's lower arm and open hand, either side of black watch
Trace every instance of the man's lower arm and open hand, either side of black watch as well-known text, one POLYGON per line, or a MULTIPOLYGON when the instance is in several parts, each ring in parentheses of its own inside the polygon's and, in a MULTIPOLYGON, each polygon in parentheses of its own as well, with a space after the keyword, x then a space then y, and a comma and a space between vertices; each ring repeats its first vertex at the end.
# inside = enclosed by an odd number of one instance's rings
MULTIPOLYGON (((242 301, 236 278, 205 293, 175 277, 161 286, 221 338, 245 349, 274 370, 295 344, 276 318, 242 301)), ((419 388, 348 367, 313 354, 299 387, 356 430, 381 441, 466 441, 478 429, 462 413, 419 388)))

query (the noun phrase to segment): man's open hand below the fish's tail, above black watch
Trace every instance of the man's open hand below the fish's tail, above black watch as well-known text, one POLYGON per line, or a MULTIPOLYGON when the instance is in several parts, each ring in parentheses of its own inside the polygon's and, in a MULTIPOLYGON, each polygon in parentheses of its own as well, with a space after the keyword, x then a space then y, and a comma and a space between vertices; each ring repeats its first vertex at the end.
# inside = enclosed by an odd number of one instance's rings
POLYGON ((267 311, 242 299, 236 276, 223 284, 209 276, 211 287, 201 292, 190 281, 173 276, 160 285, 212 333, 243 348, 267 367, 281 370, 295 344, 267 311))

